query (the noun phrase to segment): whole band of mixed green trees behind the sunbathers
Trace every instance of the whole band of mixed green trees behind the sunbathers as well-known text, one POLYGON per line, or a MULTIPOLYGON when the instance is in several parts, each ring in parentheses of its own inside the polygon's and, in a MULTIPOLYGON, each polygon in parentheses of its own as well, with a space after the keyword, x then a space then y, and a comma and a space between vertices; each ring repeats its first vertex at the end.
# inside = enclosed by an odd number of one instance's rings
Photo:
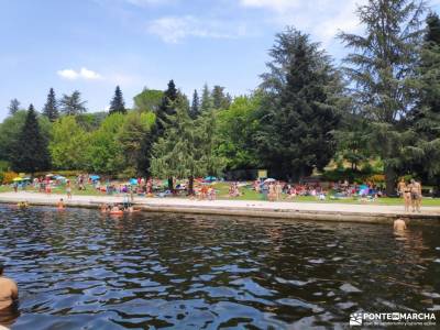
POLYGON ((440 19, 424 1, 370 0, 362 34, 341 32, 341 65, 294 28, 275 36, 262 84, 232 98, 204 86, 190 100, 170 80, 127 109, 119 87, 109 112, 88 113, 80 92, 37 113, 11 101, 0 160, 12 169, 87 169, 189 178, 267 168, 299 180, 329 162, 362 170, 383 164, 386 193, 398 176, 440 186, 440 19))

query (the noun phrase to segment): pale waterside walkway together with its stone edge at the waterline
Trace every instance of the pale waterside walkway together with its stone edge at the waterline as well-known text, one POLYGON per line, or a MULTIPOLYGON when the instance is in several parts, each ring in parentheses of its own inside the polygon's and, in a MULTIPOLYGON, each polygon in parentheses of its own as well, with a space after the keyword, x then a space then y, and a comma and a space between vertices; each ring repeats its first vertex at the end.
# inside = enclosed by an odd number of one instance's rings
MULTIPOLYGON (((1 193, 0 204, 29 201, 34 206, 56 206, 63 198, 66 207, 99 208, 101 204, 122 204, 122 196, 73 196, 40 193, 1 193)), ((262 200, 191 200, 183 198, 134 197, 133 206, 142 211, 189 215, 221 215, 252 218, 277 218, 333 222, 393 223, 406 218, 410 223, 440 223, 440 207, 422 207, 421 212, 405 212, 404 206, 284 202, 262 200)))

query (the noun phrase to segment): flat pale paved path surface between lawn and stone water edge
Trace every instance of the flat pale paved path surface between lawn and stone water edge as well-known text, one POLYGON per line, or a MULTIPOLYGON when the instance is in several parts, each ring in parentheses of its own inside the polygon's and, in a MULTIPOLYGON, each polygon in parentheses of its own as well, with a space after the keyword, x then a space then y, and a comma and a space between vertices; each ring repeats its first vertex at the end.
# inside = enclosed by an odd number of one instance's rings
MULTIPOLYGON (((77 206, 96 206, 102 202, 122 202, 122 196, 74 196, 67 200, 66 195, 51 195, 38 193, 2 193, 1 202, 18 202, 28 200, 30 204, 55 205, 59 198, 66 204, 77 206)), ((404 206, 378 206, 378 205, 350 205, 350 204, 326 204, 326 202, 270 202, 263 200, 191 200, 184 198, 145 198, 135 197, 134 204, 145 207, 169 207, 193 209, 224 209, 224 210, 268 210, 268 211, 295 211, 295 212, 329 212, 329 213, 359 213, 359 215, 402 215, 404 206)), ((408 215, 413 215, 409 212, 408 215)), ((440 216, 440 207, 424 207, 420 215, 440 216)))

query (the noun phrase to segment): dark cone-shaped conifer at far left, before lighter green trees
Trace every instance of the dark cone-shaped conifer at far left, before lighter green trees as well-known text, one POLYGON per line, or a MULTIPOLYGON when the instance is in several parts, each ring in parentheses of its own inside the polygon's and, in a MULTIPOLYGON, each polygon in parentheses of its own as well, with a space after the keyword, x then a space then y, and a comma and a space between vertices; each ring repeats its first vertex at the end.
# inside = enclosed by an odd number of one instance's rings
POLYGON ((19 134, 12 168, 15 172, 35 173, 51 167, 47 141, 42 134, 34 107, 28 110, 26 120, 19 134))

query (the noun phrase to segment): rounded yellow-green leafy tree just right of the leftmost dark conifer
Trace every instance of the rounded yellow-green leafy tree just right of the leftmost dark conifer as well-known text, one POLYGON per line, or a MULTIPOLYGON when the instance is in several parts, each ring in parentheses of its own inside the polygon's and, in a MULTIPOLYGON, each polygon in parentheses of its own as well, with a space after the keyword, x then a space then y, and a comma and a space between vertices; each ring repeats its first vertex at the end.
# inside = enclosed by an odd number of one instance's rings
POLYGON ((52 164, 59 169, 87 168, 89 133, 78 125, 73 116, 62 117, 54 122, 50 151, 52 164))

